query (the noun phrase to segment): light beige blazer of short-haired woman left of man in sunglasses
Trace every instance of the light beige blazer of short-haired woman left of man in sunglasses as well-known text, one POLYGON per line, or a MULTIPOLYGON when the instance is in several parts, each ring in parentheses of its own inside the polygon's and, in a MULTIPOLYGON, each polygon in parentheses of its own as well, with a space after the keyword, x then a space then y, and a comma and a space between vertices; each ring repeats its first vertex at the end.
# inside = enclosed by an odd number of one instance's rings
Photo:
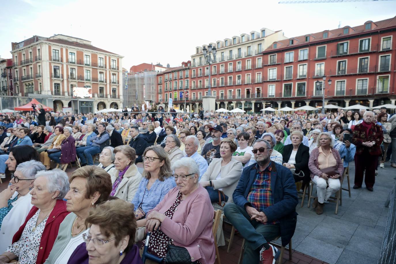
POLYGON ((200 182, 208 180, 212 181, 215 190, 222 188, 225 195, 228 196, 227 203, 232 203, 232 193, 238 185, 239 178, 242 175, 242 163, 234 158, 227 165, 221 167, 223 158, 214 158, 209 164, 206 173, 202 175, 200 182), (217 175, 221 173, 221 179, 217 179, 217 175))

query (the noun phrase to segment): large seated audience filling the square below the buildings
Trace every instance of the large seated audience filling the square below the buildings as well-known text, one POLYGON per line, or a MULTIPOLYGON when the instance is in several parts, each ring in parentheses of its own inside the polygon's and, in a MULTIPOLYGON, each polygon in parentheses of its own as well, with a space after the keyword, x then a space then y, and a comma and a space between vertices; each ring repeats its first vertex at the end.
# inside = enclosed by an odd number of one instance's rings
POLYGON ((378 169, 387 160, 396 167, 396 117, 386 108, 304 115, 164 108, 65 114, 38 106, 37 115, 0 115, 0 178, 11 177, 0 193, 0 264, 135 264, 144 243, 165 261, 174 245, 192 263, 214 263, 215 245, 225 245, 223 218, 246 239, 243 263, 269 264, 278 256, 269 242, 281 237, 286 246, 294 234, 296 182, 316 185, 320 215, 349 162, 353 188, 364 180, 371 192, 378 169), (78 169, 68 177, 70 163, 78 169))

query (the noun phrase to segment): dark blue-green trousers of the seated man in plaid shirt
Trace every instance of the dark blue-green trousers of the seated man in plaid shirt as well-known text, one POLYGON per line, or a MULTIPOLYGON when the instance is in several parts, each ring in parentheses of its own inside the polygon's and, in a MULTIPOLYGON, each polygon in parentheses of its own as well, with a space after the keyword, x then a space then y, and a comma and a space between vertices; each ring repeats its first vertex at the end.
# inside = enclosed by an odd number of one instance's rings
POLYGON ((242 263, 259 263, 260 250, 263 244, 280 236, 280 225, 262 224, 256 220, 250 220, 246 210, 235 203, 227 203, 224 207, 224 214, 245 239, 245 253, 242 263))

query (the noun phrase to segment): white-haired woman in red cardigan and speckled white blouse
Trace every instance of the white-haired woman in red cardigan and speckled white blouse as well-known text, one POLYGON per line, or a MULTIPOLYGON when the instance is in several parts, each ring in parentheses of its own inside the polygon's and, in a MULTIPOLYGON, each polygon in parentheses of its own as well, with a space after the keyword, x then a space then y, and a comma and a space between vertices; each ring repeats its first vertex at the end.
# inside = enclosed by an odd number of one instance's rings
POLYGON ((20 263, 41 264, 51 252, 59 225, 69 214, 63 198, 69 191, 69 178, 64 171, 40 171, 30 191, 34 205, 25 222, 15 233, 12 244, 0 256, 0 261, 19 258, 20 263))

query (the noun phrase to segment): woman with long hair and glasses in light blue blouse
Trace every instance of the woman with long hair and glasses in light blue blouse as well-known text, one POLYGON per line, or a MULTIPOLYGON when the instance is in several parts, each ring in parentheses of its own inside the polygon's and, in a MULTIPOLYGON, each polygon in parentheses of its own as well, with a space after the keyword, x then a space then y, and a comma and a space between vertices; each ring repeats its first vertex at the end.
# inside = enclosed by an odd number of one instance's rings
MULTIPOLYGON (((153 209, 169 190, 173 189, 176 184, 171 177, 171 163, 168 154, 160 146, 151 146, 146 148, 143 153, 144 168, 143 179, 141 180, 135 197, 133 197, 133 205, 135 211, 139 208, 147 214, 153 209)), ((136 241, 141 241, 145 237, 146 225, 145 215, 137 219, 136 241)))

